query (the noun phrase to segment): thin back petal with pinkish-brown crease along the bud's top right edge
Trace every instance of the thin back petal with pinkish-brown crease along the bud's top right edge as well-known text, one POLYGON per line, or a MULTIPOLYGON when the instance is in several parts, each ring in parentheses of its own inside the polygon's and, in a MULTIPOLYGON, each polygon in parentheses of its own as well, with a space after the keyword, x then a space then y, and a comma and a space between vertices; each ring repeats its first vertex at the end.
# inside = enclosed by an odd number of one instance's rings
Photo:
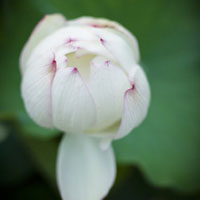
POLYGON ((69 21, 69 24, 82 24, 94 28, 110 28, 116 30, 117 34, 120 34, 120 36, 123 37, 130 44, 130 46, 132 46, 136 61, 139 61, 139 48, 136 38, 119 23, 104 18, 80 17, 69 21))

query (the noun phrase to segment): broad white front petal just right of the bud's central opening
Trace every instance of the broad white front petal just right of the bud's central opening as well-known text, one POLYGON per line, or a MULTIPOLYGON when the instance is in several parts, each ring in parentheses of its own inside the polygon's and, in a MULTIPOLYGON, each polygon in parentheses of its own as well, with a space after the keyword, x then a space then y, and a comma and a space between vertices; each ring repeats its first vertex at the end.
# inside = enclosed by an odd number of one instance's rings
POLYGON ((105 129, 119 121, 123 95, 130 88, 128 77, 112 62, 96 57, 92 61, 88 87, 97 107, 97 121, 93 129, 105 129))

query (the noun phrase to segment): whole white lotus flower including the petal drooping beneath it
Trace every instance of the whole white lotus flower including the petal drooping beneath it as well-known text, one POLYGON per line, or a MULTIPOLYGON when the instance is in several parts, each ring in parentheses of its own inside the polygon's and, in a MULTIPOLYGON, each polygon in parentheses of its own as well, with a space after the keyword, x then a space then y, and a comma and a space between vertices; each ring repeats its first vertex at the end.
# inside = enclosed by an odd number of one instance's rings
POLYGON ((20 59, 26 110, 40 126, 67 133, 57 163, 64 200, 101 200, 112 186, 110 142, 138 126, 149 106, 138 62, 136 39, 106 19, 48 15, 26 43, 20 59))

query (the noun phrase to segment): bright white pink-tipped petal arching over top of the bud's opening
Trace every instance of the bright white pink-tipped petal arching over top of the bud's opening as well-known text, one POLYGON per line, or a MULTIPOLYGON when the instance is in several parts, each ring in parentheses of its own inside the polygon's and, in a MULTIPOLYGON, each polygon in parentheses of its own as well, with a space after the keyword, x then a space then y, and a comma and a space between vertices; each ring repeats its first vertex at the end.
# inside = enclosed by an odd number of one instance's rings
MULTIPOLYGON (((79 52, 86 50, 91 54, 100 54, 106 57, 112 57, 109 52, 99 43, 98 38, 89 28, 85 27, 64 27, 55 31, 42 40, 32 51, 26 62, 28 68, 33 62, 39 62, 40 57, 44 54, 59 54, 59 52, 67 53, 79 52), (45 53, 44 53, 45 52, 45 53)), ((61 55, 63 56, 63 55, 61 55)))

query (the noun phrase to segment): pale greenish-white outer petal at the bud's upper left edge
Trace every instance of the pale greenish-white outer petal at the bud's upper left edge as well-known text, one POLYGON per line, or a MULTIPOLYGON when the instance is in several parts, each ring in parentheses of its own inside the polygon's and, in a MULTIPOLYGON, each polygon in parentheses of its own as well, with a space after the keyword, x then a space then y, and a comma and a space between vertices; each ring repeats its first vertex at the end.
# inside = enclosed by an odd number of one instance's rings
POLYGON ((26 62, 32 52, 32 50, 44 39, 47 35, 50 35, 57 29, 66 25, 66 19, 63 15, 52 14, 46 15, 35 27, 28 42, 24 46, 24 49, 20 58, 21 71, 24 72, 26 68, 26 62))

